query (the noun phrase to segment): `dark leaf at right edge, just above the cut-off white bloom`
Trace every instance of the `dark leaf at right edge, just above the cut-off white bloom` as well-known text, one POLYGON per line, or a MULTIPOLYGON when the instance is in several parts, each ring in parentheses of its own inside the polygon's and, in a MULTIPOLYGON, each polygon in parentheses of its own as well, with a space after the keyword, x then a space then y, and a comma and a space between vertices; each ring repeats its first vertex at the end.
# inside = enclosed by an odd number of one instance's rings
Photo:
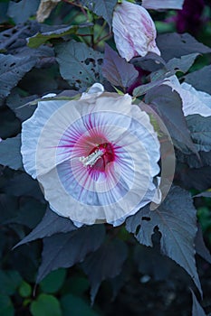
POLYGON ((211 94, 211 65, 188 73, 185 76, 185 81, 194 86, 194 88, 197 88, 197 90, 211 94))

